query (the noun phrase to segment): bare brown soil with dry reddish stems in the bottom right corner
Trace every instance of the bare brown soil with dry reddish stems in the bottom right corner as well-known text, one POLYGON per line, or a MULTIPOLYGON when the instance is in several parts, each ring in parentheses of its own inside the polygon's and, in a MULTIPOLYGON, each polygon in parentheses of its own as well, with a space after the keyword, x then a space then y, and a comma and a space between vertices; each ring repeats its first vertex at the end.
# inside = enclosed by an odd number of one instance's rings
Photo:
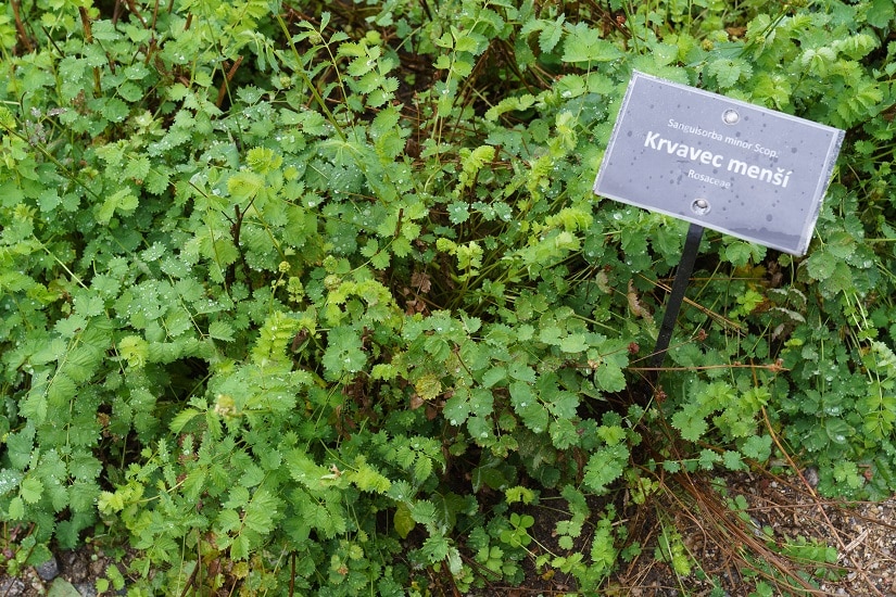
MULTIPOLYGON (((756 589, 757 581, 762 581, 773 587, 769 595, 896 597, 896 497, 881 503, 831 501, 819 497, 804 479, 769 475, 730 477, 724 486, 729 498, 743 496, 746 500, 742 516, 709 495, 699 498, 706 500, 704 504, 695 504, 691 494, 687 503, 657 506, 667 515, 674 512, 674 525, 702 570, 679 576, 668 563, 656 559, 661 525, 655 517, 654 539, 645 544, 642 557, 616 577, 619 595, 698 597, 712 594, 718 586, 722 593, 716 589, 715 595, 746 597, 756 589), (787 546, 808 545, 804 552, 809 552, 812 542, 832 546, 833 561, 804 560, 798 566, 793 558, 780 557, 787 546), (742 557, 745 551, 755 557, 753 564, 742 557), (778 580, 769 577, 775 569, 778 580), (800 586, 800 573, 816 579, 817 588, 800 586)), ((792 554, 796 550, 791 549, 792 554)))

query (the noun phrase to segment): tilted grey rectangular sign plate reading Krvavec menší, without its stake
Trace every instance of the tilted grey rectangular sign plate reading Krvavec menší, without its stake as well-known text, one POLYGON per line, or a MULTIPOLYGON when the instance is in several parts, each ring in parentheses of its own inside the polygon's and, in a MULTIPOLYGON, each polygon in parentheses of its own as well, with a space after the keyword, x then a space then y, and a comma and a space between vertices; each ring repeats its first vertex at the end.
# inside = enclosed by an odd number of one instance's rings
POLYGON ((804 255, 843 135, 635 72, 594 192, 804 255))

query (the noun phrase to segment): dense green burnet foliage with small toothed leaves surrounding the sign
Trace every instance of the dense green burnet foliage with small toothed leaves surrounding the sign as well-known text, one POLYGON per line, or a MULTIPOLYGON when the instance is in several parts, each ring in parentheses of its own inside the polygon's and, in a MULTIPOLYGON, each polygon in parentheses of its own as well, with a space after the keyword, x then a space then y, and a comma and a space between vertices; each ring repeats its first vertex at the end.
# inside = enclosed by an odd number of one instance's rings
POLYGON ((894 18, 5 3, 5 572, 90 542, 130 595, 609 593, 640 557, 718 595, 836 579, 837 546, 743 532, 711 485, 896 488, 894 18), (805 258, 707 233, 653 385, 686 225, 591 192, 634 68, 847 130, 805 258), (672 516, 707 492, 727 580, 672 516))

